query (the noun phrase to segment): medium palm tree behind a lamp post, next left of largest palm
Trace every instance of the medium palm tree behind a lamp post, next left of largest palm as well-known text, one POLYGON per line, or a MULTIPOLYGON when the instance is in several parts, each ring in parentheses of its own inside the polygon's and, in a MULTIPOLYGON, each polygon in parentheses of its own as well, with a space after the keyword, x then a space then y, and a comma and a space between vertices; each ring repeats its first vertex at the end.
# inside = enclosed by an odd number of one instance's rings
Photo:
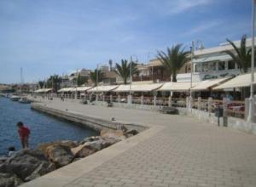
POLYGON ((137 64, 134 62, 128 63, 127 59, 121 60, 121 65, 116 64, 116 70, 114 72, 119 75, 119 77, 122 77, 124 80, 124 83, 127 84, 127 79, 130 77, 130 71, 131 76, 137 73, 137 64))

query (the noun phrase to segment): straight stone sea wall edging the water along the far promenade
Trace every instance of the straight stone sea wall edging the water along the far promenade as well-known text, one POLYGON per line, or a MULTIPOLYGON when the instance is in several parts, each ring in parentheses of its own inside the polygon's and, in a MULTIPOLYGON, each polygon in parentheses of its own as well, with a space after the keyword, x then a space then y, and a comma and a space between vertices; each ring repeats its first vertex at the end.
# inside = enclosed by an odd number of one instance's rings
POLYGON ((142 132, 146 127, 137 124, 131 124, 126 122, 108 121, 101 118, 96 118, 92 116, 84 116, 79 113, 74 113, 72 111, 61 111, 48 107, 47 105, 40 103, 32 103, 31 108, 36 111, 44 112, 51 116, 56 116, 61 119, 65 119, 69 122, 75 122, 84 127, 90 127, 97 132, 101 132, 102 129, 113 129, 119 130, 123 126, 128 129, 136 129, 138 132, 142 132))

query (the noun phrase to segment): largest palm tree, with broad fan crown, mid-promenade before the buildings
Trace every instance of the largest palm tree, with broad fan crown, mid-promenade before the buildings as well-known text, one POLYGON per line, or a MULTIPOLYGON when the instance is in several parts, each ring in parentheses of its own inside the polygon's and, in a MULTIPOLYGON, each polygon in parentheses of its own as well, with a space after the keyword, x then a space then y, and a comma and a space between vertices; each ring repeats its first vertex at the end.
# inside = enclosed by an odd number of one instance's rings
POLYGON ((166 67, 169 75, 172 76, 172 82, 177 82, 177 71, 189 60, 189 52, 184 51, 182 46, 182 44, 177 44, 172 48, 167 48, 167 54, 163 51, 157 51, 157 58, 166 67))

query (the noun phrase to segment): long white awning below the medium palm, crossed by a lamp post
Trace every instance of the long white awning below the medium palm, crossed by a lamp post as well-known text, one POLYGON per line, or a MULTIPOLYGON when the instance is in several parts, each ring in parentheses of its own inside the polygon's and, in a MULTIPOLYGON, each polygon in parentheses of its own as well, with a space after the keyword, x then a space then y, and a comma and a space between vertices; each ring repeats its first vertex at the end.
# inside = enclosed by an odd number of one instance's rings
MULTIPOLYGON (((157 88, 160 88, 162 85, 162 83, 131 84, 131 92, 151 92, 157 88)), ((130 85, 120 85, 119 88, 114 89, 113 92, 130 92, 130 85)))

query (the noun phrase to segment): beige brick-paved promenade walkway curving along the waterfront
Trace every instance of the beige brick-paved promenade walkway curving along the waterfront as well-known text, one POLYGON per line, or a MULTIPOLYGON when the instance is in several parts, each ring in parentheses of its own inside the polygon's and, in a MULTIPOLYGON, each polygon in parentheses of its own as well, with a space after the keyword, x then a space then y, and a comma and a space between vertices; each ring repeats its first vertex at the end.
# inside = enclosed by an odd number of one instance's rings
POLYGON ((115 117, 150 128, 25 186, 45 186, 50 179, 55 186, 66 187, 256 186, 255 135, 189 116, 60 101, 46 105, 107 120, 115 117))

